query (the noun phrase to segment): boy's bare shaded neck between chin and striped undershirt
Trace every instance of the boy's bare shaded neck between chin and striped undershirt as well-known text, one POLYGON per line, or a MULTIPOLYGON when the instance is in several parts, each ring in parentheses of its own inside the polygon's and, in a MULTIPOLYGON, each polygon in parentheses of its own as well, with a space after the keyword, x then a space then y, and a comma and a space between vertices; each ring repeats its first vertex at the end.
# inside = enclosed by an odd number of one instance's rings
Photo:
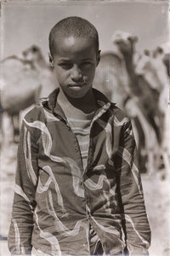
POLYGON ((72 98, 65 95, 63 90, 60 89, 58 102, 60 105, 66 105, 67 108, 78 108, 83 113, 92 113, 97 109, 93 90, 88 90, 88 93, 82 98, 72 98))

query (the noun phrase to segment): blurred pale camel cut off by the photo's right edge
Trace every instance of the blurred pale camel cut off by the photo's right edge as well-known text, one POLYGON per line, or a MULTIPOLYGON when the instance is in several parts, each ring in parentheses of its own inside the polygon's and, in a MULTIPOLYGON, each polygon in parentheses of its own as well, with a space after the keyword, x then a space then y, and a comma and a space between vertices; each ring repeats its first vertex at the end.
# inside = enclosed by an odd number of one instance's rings
POLYGON ((156 49, 152 50, 150 57, 143 58, 139 61, 139 67, 136 73, 142 73, 144 79, 150 82, 150 86, 159 91, 157 106, 161 113, 160 125, 161 130, 161 154, 167 169, 170 170, 170 146, 169 143, 169 123, 170 123, 170 108, 169 108, 169 43, 161 44, 156 49), (142 66, 141 66, 142 64, 142 66))

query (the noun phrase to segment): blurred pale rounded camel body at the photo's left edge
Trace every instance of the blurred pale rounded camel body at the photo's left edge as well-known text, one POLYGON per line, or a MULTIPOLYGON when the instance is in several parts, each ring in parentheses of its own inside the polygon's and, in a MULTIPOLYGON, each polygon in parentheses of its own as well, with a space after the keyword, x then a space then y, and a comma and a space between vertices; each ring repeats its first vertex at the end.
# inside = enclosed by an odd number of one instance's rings
POLYGON ((17 143, 20 111, 37 102, 41 84, 37 81, 31 63, 15 55, 3 59, 0 67, 2 115, 8 113, 11 125, 14 127, 14 142, 17 143))

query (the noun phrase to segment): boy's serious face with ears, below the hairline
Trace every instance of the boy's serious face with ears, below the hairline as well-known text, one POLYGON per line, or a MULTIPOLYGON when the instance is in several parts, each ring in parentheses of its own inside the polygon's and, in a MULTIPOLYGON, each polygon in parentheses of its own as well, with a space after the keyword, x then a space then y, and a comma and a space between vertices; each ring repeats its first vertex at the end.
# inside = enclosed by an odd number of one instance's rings
POLYGON ((99 64, 94 41, 89 38, 57 38, 49 61, 65 96, 81 98, 92 90, 95 68, 99 64))

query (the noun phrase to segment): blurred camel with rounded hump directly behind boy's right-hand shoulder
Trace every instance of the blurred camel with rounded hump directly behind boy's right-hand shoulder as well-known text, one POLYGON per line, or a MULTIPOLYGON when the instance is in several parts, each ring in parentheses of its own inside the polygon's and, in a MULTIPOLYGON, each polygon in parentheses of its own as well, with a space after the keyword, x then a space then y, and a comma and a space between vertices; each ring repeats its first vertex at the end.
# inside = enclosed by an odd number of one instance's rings
MULTIPOLYGON (((102 91, 111 102, 115 102, 118 108, 121 108, 127 113, 127 116, 132 120, 134 136, 141 152, 145 147, 144 132, 147 132, 148 129, 144 129, 147 125, 143 127, 144 116, 138 106, 138 97, 132 95, 131 88, 128 84, 129 78, 122 55, 115 49, 103 53, 99 67, 96 70, 94 88, 102 91)), ((142 157, 139 154, 139 160, 141 159, 142 157)), ((142 160, 141 163, 143 164, 142 160)), ((144 164, 142 166, 144 171, 144 164)))

